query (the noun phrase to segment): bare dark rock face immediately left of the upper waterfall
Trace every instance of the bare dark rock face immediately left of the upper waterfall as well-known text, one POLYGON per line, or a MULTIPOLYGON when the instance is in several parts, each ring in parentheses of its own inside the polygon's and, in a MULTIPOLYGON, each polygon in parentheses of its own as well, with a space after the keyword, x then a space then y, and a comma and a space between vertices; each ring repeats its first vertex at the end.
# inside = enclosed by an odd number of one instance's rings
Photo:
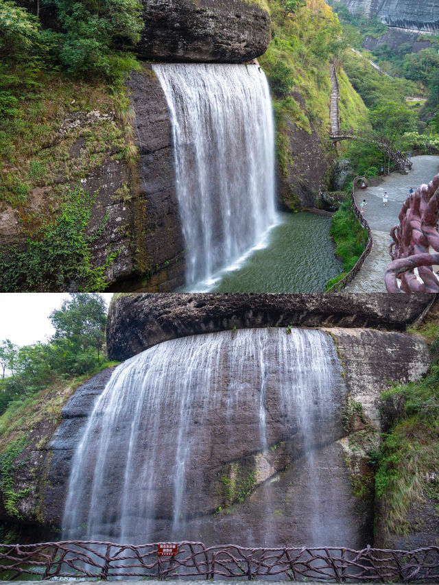
POLYGON ((106 160, 82 186, 97 194, 90 229, 104 224, 93 245, 93 261, 115 260, 106 272, 109 290, 168 291, 184 283, 184 243, 175 193, 169 111, 154 72, 132 73, 134 167, 106 160), (108 218, 105 222, 105 218, 108 218))

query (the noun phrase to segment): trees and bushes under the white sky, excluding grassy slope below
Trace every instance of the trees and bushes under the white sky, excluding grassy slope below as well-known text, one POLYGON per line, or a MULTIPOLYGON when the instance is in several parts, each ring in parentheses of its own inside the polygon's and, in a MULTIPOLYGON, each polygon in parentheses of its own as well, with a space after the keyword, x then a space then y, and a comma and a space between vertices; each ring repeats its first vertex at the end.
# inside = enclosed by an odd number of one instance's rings
POLYGON ((53 383, 101 366, 106 327, 102 296, 72 294, 50 319, 56 333, 48 343, 20 348, 8 339, 0 343, 3 374, 9 374, 0 379, 0 414, 53 383))

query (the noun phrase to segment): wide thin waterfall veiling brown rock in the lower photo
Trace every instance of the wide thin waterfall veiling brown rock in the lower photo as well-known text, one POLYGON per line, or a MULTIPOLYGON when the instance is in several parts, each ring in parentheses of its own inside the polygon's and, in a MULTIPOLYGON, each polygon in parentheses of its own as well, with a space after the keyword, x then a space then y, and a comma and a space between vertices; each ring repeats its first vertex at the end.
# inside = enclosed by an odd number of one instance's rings
MULTIPOLYGON (((64 538, 276 545, 283 538, 274 534, 276 510, 284 504, 270 492, 276 446, 279 440, 289 445, 283 466, 287 453, 295 453, 306 467, 309 453, 337 438, 343 388, 333 340, 318 330, 209 333, 128 359, 97 399, 73 458, 64 538), (233 516, 214 512, 219 491, 230 488, 226 466, 237 473, 249 453, 253 470, 241 504, 248 515, 238 528, 233 516), (252 506, 263 515, 257 522, 252 506)), ((300 498, 309 503, 309 520, 334 531, 337 501, 328 502, 328 479, 318 469, 307 476, 309 493, 300 498), (318 497, 327 503, 324 516, 318 497)), ((332 542, 346 545, 346 534, 337 525, 332 542)), ((320 538, 310 533, 307 544, 331 544, 320 538)))

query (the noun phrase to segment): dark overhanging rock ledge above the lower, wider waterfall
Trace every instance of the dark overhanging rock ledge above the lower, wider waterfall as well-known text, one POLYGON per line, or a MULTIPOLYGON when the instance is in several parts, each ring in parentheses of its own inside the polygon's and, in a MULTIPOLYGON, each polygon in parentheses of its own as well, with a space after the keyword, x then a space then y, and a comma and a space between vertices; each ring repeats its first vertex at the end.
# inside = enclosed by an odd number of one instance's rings
POLYGON ((129 294, 112 301, 107 345, 122 361, 167 339, 249 327, 374 327, 405 331, 432 294, 129 294))

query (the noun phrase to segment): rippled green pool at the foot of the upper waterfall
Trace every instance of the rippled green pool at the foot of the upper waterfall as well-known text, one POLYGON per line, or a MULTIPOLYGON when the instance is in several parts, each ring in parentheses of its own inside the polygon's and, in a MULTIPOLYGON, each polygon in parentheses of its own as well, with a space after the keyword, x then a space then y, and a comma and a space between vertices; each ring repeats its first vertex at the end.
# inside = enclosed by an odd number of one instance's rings
POLYGON ((313 213, 280 213, 281 224, 268 246, 254 250, 237 270, 224 271, 212 292, 315 292, 343 272, 329 239, 331 218, 313 213))

